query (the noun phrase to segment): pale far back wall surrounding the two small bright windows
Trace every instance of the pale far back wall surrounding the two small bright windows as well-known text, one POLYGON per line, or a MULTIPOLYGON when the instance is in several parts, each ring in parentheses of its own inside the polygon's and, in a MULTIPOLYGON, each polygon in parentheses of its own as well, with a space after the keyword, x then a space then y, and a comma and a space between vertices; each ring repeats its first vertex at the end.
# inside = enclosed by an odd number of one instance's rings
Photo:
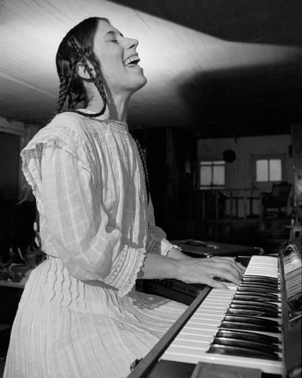
MULTIPOLYGON (((260 188, 263 192, 269 192, 271 183, 254 182, 253 156, 283 156, 283 180, 293 183, 293 159, 288 155, 289 145, 291 145, 291 136, 287 134, 237 139, 199 139, 197 161, 223 159, 223 152, 231 149, 236 153, 236 159, 232 163, 226 163, 226 188, 254 187, 260 188)), ((258 205, 255 204, 254 214, 259 214, 259 212, 258 203, 258 205)), ((240 214, 242 214, 242 209, 240 214)))

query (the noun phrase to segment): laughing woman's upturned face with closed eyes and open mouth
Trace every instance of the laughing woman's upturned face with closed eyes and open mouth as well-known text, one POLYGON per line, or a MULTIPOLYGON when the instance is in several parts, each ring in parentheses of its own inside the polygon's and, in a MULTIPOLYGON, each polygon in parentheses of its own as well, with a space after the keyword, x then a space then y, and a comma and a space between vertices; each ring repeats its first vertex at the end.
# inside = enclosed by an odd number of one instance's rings
POLYGON ((101 72, 113 95, 134 93, 147 79, 138 63, 137 40, 123 37, 112 25, 98 21, 94 35, 94 54, 100 62, 101 72))

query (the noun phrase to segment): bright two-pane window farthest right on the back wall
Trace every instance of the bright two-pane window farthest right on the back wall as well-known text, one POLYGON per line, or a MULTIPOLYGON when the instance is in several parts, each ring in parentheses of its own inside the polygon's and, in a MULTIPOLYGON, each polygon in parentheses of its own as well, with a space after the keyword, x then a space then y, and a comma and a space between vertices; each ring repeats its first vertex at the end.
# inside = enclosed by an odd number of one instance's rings
POLYGON ((256 181, 281 181, 282 160, 281 159, 257 159, 256 160, 256 181))

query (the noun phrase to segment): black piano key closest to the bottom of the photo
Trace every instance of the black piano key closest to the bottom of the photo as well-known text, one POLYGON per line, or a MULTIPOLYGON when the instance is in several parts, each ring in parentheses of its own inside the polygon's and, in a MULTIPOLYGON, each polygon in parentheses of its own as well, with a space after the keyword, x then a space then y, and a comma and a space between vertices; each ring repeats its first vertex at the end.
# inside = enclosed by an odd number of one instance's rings
POLYGON ((229 345, 212 344, 207 352, 230 355, 230 356, 280 360, 277 353, 268 353, 268 352, 256 351, 253 349, 229 346, 229 345))

